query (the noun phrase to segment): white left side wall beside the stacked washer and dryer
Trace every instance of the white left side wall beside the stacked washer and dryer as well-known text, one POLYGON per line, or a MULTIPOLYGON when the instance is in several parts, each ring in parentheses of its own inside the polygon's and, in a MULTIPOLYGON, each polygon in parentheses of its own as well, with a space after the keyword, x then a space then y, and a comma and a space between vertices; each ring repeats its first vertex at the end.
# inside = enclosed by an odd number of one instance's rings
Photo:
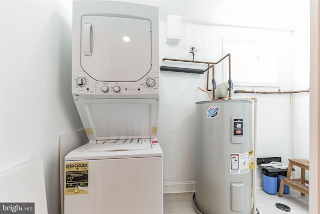
POLYGON ((71 1, 0 1, 0 170, 42 159, 50 214, 60 212, 58 136, 82 127, 71 96, 71 14, 71 1))

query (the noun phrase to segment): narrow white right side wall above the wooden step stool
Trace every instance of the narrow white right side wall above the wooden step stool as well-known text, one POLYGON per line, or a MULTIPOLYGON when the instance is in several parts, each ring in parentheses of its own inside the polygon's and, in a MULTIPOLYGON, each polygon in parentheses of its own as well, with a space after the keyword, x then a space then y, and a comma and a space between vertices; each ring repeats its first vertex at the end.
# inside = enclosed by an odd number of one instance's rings
MULTIPOLYGON (((299 5, 293 32, 293 89, 309 88, 310 77, 310 2, 299 5)), ((293 96, 294 157, 309 158, 309 93, 293 96)))

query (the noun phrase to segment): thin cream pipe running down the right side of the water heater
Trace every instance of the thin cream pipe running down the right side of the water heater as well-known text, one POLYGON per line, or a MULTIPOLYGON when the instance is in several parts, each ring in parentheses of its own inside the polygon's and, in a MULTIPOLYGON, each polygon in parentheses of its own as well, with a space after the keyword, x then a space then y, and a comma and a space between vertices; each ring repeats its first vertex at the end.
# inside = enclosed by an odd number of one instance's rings
MULTIPOLYGON (((253 208, 252 214, 256 214, 256 118, 257 118, 257 103, 256 97, 236 98, 236 100, 254 100, 254 126, 253 126, 253 208)), ((260 213, 258 211, 258 213, 260 213)))

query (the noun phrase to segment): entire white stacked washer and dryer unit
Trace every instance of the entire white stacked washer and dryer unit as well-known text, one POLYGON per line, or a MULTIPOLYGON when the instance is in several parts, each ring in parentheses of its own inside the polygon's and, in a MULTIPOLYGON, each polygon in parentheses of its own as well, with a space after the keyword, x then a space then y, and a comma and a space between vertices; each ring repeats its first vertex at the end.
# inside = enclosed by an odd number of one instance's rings
POLYGON ((72 96, 89 142, 65 156, 64 214, 162 214, 158 9, 74 1, 72 96))

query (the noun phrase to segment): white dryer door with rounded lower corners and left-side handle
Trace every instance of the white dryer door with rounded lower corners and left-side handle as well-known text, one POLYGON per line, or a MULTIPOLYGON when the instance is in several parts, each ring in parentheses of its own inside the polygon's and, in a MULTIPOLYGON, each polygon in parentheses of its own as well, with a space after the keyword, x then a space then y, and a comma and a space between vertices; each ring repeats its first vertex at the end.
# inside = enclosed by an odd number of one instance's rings
POLYGON ((81 67, 93 79, 136 82, 151 69, 149 20, 83 16, 81 67))

